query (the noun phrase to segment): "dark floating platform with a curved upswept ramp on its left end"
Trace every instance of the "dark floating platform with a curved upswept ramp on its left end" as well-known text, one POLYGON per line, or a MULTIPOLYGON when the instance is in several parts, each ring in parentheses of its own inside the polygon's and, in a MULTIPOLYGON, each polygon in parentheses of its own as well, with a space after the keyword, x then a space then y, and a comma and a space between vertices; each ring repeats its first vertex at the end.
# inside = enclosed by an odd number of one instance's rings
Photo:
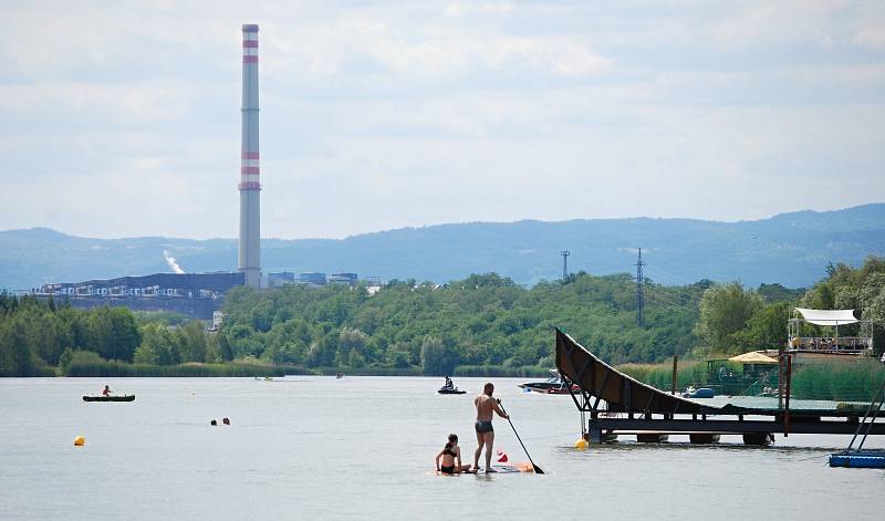
MULTIPOLYGON (((556 367, 579 387, 571 396, 582 414, 590 413, 592 442, 636 431, 733 434, 750 445, 763 445, 775 433, 853 435, 867 408, 865 403, 802 399, 789 399, 789 408, 780 408, 778 398, 761 396, 683 398, 621 373, 560 330, 556 367)), ((885 410, 876 415, 885 417, 885 410)), ((872 425, 870 434, 885 435, 885 423, 872 425)))

